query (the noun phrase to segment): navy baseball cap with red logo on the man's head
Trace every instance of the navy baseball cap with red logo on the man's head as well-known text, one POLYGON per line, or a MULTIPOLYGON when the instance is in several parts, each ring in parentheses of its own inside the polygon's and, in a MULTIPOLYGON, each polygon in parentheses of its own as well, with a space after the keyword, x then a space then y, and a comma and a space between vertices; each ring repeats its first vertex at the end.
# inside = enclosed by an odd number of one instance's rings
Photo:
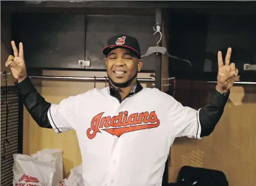
POLYGON ((111 50, 117 48, 128 49, 135 53, 140 58, 139 41, 135 37, 127 35, 118 35, 110 37, 107 41, 107 46, 103 48, 103 54, 107 55, 111 50))

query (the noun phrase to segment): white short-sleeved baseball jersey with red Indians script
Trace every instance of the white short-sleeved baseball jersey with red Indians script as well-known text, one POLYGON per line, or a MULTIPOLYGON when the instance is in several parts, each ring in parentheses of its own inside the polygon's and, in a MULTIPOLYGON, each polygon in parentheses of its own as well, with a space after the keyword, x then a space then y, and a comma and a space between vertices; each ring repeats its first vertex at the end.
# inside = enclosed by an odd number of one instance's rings
POLYGON ((76 131, 87 186, 161 186, 175 137, 201 132, 197 110, 156 88, 121 103, 94 88, 52 104, 48 117, 56 133, 76 131))

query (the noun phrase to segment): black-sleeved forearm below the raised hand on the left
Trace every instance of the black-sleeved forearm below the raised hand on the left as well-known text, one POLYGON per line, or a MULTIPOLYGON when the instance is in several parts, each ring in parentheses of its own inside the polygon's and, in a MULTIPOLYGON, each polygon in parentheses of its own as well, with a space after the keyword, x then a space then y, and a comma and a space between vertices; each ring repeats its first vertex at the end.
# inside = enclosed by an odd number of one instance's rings
POLYGON ((27 108, 28 113, 30 113, 36 123, 40 127, 52 129, 47 117, 47 112, 51 104, 41 97, 30 79, 27 77, 24 81, 16 83, 15 85, 18 88, 18 93, 20 94, 25 108, 27 108))

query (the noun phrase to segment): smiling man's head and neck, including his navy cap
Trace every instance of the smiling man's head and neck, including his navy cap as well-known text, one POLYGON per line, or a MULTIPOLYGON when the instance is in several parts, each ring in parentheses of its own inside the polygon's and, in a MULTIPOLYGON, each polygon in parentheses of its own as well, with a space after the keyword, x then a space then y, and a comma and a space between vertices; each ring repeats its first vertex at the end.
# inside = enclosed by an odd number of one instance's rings
POLYGON ((108 40, 103 54, 110 85, 119 88, 120 99, 123 100, 136 84, 137 72, 142 69, 139 43, 134 37, 114 36, 108 40))

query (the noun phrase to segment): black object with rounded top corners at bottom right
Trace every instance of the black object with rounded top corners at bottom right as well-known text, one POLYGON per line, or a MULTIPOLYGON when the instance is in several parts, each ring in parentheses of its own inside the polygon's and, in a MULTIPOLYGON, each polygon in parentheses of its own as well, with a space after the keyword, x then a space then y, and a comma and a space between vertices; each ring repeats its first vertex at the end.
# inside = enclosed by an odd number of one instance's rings
POLYGON ((183 186, 228 186, 222 171, 193 166, 183 166, 178 174, 177 183, 183 186))

